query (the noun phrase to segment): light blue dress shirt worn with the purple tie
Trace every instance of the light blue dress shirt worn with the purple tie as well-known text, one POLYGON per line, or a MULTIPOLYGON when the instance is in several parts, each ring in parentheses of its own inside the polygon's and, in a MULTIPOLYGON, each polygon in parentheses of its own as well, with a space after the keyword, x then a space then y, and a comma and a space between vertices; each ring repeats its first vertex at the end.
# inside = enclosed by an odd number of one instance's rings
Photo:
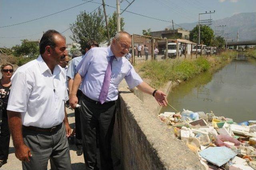
MULTIPOLYGON (((98 101, 110 56, 113 56, 110 46, 107 48, 92 48, 76 67, 76 70, 82 76, 82 92, 92 100, 98 101)), ((107 102, 117 100, 118 84, 123 78, 129 88, 134 88, 143 82, 126 58, 116 57, 112 62, 107 102)))

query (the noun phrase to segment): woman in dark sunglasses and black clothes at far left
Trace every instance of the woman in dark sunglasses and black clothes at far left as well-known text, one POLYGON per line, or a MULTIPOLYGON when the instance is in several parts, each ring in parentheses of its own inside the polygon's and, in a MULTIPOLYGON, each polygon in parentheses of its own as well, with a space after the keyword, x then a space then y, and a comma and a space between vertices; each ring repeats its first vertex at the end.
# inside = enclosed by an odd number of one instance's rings
POLYGON ((2 78, 0 79, 0 168, 7 163, 10 144, 8 128, 7 104, 11 89, 12 64, 2 64, 2 78))

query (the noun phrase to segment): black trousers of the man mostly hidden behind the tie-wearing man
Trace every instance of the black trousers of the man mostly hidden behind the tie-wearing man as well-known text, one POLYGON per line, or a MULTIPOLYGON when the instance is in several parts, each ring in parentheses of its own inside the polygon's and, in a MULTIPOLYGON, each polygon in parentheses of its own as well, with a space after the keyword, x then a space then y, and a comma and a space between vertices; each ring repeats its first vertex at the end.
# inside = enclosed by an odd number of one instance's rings
MULTIPOLYGON (((82 91, 78 90, 76 96, 78 98, 78 102, 81 99, 82 91)), ((78 149, 82 148, 82 132, 81 132, 81 118, 80 118, 80 109, 75 108, 75 126, 76 126, 76 147, 78 149)))

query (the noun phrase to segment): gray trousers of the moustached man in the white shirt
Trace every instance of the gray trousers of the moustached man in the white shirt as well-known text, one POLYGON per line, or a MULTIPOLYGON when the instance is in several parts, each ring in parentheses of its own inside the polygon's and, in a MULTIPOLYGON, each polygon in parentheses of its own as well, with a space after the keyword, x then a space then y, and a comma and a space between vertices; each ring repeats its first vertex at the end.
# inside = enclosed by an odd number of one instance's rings
POLYGON ((66 128, 55 132, 22 130, 24 143, 30 148, 30 162, 22 161, 22 170, 47 170, 50 159, 52 170, 71 170, 71 160, 66 128))

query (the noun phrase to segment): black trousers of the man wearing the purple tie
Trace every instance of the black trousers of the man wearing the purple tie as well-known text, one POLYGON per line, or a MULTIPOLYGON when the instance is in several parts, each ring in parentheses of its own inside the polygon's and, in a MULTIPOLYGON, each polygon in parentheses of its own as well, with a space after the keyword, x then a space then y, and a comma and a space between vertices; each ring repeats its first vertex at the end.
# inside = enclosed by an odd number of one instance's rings
POLYGON ((101 170, 113 170, 110 142, 115 122, 116 101, 100 104, 82 94, 80 105, 86 170, 96 169, 97 131, 101 170))

